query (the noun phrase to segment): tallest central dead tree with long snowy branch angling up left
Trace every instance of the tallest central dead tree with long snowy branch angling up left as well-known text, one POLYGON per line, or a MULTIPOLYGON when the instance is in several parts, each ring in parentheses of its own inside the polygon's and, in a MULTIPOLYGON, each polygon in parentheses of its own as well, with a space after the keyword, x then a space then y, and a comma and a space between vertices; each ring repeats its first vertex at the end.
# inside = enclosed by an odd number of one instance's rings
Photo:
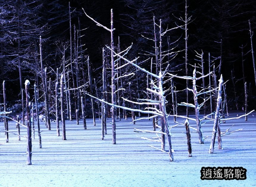
MULTIPOLYGON (((83 9, 84 10, 84 9, 83 9)), ((85 13, 85 11, 84 11, 85 13)), ((104 29, 106 29, 107 31, 109 31, 111 33, 111 103, 112 105, 112 143, 116 144, 116 125, 115 125, 115 110, 116 107, 114 105, 116 105, 115 103, 115 61, 114 61, 114 55, 113 55, 113 50, 114 50, 114 37, 113 37, 113 32, 114 32, 114 26, 113 26, 113 9, 111 9, 111 21, 110 21, 110 29, 103 26, 102 24, 98 23, 97 21, 95 21, 93 18, 91 18, 90 16, 88 16, 86 13, 85 15, 90 18, 91 20, 93 20, 98 26, 103 27, 104 29)))

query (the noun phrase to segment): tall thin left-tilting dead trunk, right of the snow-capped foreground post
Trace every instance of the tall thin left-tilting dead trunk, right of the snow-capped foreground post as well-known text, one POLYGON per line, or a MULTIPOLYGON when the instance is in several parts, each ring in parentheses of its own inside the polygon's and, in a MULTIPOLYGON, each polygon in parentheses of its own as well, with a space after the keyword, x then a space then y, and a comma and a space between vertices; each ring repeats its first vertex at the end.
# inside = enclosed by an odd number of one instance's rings
POLYGON ((42 82, 43 82, 43 91, 44 91, 44 102, 45 102, 45 118, 47 119, 46 124, 48 126, 48 130, 51 130, 51 123, 50 123, 50 113, 49 113, 49 103, 48 103, 48 94, 47 94, 47 85, 46 85, 46 78, 43 71, 43 57, 42 57, 42 39, 40 36, 40 62, 41 62, 41 73, 42 73, 42 82))

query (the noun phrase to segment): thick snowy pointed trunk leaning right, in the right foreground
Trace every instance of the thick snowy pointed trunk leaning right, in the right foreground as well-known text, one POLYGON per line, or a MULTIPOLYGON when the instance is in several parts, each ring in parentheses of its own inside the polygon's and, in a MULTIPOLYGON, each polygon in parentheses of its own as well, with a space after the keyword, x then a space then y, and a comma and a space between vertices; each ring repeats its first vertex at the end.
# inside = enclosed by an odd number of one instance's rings
POLYGON ((209 153, 213 153, 213 149, 214 149, 214 143, 215 143, 215 138, 216 138, 217 126, 218 126, 218 122, 219 122, 219 110, 220 110, 220 104, 221 104, 221 88, 222 88, 222 83, 223 83, 223 78, 222 78, 222 75, 221 75, 220 80, 219 80, 217 107, 216 107, 216 113, 215 113, 215 118, 214 118, 214 123, 213 123, 213 134, 212 134, 212 139, 211 139, 211 145, 210 145, 209 153))

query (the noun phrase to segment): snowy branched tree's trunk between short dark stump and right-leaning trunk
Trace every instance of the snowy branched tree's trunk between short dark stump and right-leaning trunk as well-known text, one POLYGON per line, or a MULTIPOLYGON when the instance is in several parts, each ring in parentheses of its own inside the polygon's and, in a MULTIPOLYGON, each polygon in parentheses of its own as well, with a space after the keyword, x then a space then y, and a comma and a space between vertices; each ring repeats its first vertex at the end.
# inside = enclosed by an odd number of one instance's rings
POLYGON ((197 132, 199 135, 199 143, 204 144, 204 137, 202 135, 201 122, 200 122, 200 118, 199 118, 199 109, 198 109, 198 99, 197 99, 197 90, 196 90, 196 69, 194 69, 194 71, 193 71, 193 93, 194 93, 196 126, 197 126, 197 132))

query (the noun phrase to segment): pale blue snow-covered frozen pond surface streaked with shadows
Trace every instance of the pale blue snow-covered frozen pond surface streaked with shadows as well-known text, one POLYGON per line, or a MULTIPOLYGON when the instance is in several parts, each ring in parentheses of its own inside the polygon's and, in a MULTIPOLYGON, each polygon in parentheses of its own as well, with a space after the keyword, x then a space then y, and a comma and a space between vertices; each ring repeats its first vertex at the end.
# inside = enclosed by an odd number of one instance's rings
MULTIPOLYGON (((255 112, 253 112, 255 114, 255 112)), ((235 117, 236 113, 232 113, 235 117)), ((173 119, 170 118, 170 126, 173 119)), ((178 118, 181 122, 183 119, 178 118)), ((116 145, 112 144, 110 119, 107 135, 101 140, 101 121, 87 119, 87 130, 76 121, 66 121, 66 138, 57 137, 56 124, 51 131, 43 122, 42 149, 39 149, 37 128, 32 139, 32 165, 26 165, 26 140, 9 134, 5 143, 4 132, 0 134, 0 186, 256 186, 256 116, 228 121, 221 130, 235 124, 230 131, 242 131, 222 137, 223 150, 218 150, 216 139, 213 154, 209 154, 213 125, 202 126, 205 144, 198 143, 198 134, 191 129, 192 156, 188 157, 185 126, 171 129, 174 161, 168 154, 148 145, 161 148, 160 142, 150 142, 141 137, 154 137, 150 133, 134 132, 134 128, 152 130, 152 121, 117 120, 116 145), (201 167, 243 167, 247 169, 246 180, 201 180, 201 167)), ((3 129, 3 123, 0 124, 3 129)), ((61 123, 60 123, 61 126, 61 123)), ((190 126, 196 127, 193 121, 190 126)), ((17 132, 15 123, 9 121, 9 131, 17 132)), ((60 134, 62 132, 60 131, 60 134)), ((21 135, 26 129, 21 126, 21 135)), ((167 140, 166 140, 167 143, 167 140)), ((166 146, 167 148, 167 146, 166 146)))

